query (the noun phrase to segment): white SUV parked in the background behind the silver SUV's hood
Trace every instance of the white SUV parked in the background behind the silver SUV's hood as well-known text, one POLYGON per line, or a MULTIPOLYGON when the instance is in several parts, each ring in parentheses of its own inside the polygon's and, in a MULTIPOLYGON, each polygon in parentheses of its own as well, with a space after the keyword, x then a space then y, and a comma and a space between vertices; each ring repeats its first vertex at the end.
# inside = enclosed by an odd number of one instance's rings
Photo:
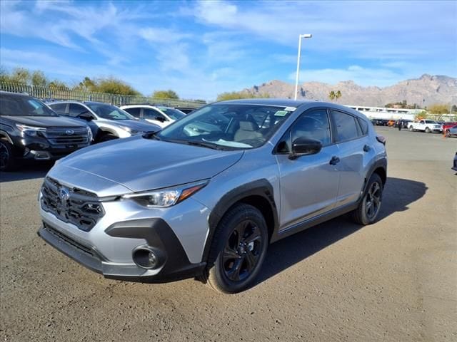
POLYGON ((159 125, 161 128, 186 116, 181 110, 164 105, 122 105, 121 109, 135 118, 144 119, 149 123, 159 125))

